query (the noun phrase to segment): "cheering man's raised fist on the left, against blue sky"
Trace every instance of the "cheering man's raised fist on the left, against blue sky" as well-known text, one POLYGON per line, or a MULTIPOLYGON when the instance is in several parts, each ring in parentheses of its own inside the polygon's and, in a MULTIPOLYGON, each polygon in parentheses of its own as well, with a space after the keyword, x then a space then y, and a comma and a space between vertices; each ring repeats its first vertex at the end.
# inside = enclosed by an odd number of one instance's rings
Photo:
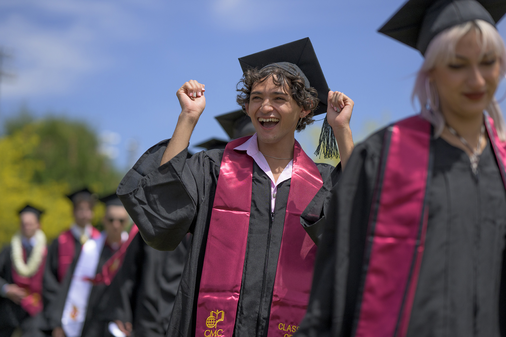
POLYGON ((205 108, 204 85, 196 80, 189 80, 179 88, 176 95, 181 105, 181 114, 198 120, 205 108))

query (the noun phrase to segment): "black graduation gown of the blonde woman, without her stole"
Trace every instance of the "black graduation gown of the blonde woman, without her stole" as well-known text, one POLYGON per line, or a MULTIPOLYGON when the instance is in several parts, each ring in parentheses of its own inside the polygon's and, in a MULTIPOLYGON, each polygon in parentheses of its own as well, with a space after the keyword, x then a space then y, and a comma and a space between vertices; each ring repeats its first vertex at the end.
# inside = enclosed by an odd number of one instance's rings
MULTIPOLYGON (((308 312, 297 337, 354 333, 384 136, 385 129, 355 148, 331 193, 308 312)), ((407 336, 499 336, 499 325, 504 331, 499 306, 501 314, 506 309, 501 278, 506 192, 495 155, 489 143, 475 177, 462 150, 442 138, 432 139, 431 148, 429 220, 407 336)))

